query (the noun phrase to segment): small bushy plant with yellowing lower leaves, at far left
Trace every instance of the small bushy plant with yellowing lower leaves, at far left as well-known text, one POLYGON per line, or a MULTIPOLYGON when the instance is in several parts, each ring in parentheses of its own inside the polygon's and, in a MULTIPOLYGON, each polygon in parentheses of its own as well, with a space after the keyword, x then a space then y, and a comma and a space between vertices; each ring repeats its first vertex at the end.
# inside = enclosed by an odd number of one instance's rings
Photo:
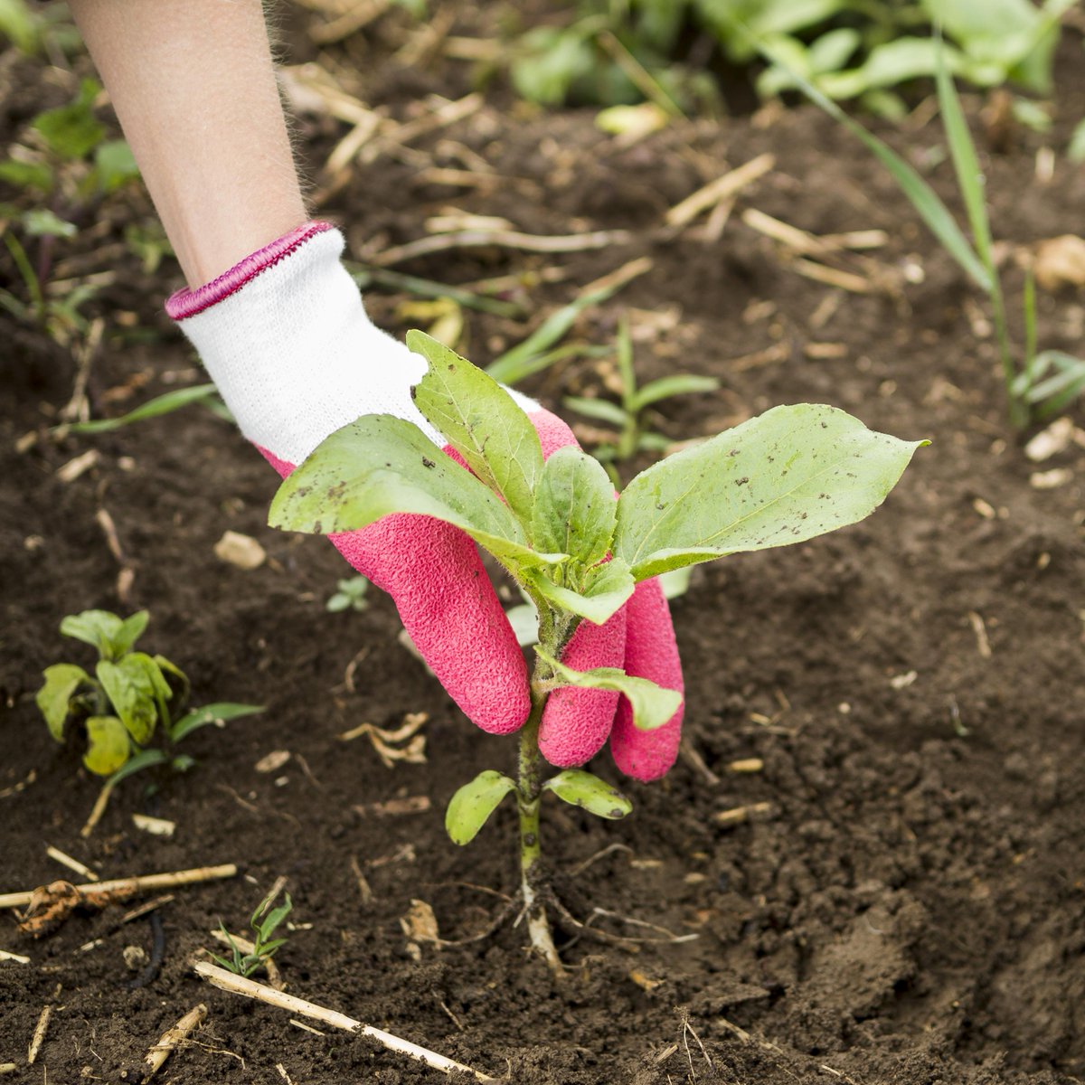
POLYGON ((85 740, 82 763, 108 777, 108 788, 155 765, 188 769, 192 757, 176 748, 193 731, 264 711, 232 702, 187 711, 190 684, 184 673, 164 655, 135 650, 148 620, 146 611, 124 620, 108 611, 69 614, 61 633, 97 649, 94 673, 75 663, 54 663, 46 667, 35 699, 56 742, 76 736, 85 740))

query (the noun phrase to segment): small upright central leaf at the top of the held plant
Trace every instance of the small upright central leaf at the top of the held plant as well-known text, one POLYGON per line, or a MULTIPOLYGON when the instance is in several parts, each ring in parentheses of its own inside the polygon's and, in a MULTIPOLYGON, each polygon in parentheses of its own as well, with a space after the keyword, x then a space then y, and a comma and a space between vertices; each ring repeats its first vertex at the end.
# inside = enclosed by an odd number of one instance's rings
POLYGON ((610 550, 616 515, 614 487, 597 460, 572 445, 550 456, 531 512, 536 548, 595 565, 610 550))

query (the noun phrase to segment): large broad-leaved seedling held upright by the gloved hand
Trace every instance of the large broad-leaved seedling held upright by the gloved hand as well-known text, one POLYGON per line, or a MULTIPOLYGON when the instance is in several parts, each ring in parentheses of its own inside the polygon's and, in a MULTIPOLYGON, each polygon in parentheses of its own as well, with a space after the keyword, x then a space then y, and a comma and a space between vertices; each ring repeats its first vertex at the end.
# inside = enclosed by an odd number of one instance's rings
POLYGON ((580 449, 561 448, 544 462, 535 427, 493 378, 421 332, 408 333, 407 345, 429 362, 413 388, 418 409, 471 470, 437 455, 410 422, 362 416, 283 482, 269 522, 327 534, 394 512, 435 516, 487 550, 535 605, 531 714, 516 776, 482 773, 456 793, 446 826, 465 844, 506 795, 515 796, 532 943, 560 971, 540 861, 544 793, 607 818, 630 806, 583 769, 544 779, 538 728, 547 698, 567 686, 617 690, 641 729, 663 726, 681 703, 674 690, 618 668, 577 672, 561 663, 578 624, 605 622, 638 580, 861 520, 923 442, 872 433, 832 407, 777 407, 654 464, 615 500, 602 465, 580 449))

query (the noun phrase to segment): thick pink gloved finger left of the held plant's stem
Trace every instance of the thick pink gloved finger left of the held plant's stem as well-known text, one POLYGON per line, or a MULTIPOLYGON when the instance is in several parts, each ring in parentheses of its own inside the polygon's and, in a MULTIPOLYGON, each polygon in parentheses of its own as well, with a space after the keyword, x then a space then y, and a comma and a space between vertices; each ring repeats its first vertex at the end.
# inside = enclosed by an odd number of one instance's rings
MULTIPOLYGON (((281 475, 293 470, 260 451, 281 475)), ((523 726, 527 667, 469 536, 432 516, 396 513, 330 538, 392 596, 414 646, 472 723, 490 735, 523 726)))

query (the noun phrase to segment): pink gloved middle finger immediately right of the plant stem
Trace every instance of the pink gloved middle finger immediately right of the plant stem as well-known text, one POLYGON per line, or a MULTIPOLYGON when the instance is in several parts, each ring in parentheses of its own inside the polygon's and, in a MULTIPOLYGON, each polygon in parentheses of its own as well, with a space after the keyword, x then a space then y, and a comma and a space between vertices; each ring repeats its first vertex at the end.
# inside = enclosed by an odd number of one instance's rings
MULTIPOLYGON (((626 612, 623 607, 603 625, 582 622, 562 653, 575 671, 620 667, 625 653, 626 612)), ((551 765, 569 768, 593 757, 607 741, 617 707, 617 693, 602 689, 556 689, 539 724, 539 750, 551 765)))

